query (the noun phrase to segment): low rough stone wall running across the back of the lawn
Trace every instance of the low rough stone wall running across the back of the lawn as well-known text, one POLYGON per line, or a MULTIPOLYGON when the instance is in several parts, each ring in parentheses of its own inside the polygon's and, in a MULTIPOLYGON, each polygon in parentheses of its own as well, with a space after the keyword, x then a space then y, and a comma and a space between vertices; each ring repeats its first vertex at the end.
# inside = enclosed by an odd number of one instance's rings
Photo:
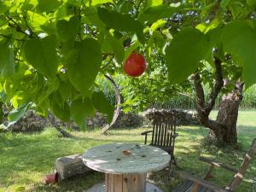
MULTIPOLYGON (((141 127, 143 125, 148 126, 152 122, 152 113, 154 112, 154 110, 156 109, 148 109, 146 112, 142 113, 142 115, 121 112, 119 114, 117 122, 113 125, 113 128, 141 127)), ((172 109, 172 112, 176 113, 177 125, 198 124, 195 113, 181 109, 172 109)), ((87 126, 89 128, 103 127, 107 125, 107 123, 107 116, 102 113, 96 113, 96 116, 94 118, 87 119, 87 126)), ((44 127, 52 125, 72 128, 75 130, 79 129, 79 126, 73 122, 62 122, 60 119, 56 119, 52 114, 49 114, 48 118, 44 118, 30 110, 26 113, 24 117, 20 118, 20 120, 15 123, 15 125, 11 125, 10 130, 15 132, 43 131, 44 127)))

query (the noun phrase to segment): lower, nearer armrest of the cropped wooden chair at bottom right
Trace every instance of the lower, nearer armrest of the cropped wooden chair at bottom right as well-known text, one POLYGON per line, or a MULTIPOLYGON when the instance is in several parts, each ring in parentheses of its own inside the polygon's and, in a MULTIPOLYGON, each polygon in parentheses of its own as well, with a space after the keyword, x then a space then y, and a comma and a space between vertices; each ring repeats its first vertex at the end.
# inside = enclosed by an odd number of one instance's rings
POLYGON ((208 188, 208 189, 212 189, 212 190, 216 190, 218 192, 233 192, 232 190, 229 189, 223 189, 221 187, 219 187, 218 185, 208 182, 206 180, 201 179, 200 177, 195 177, 187 172, 178 172, 180 177, 183 177, 184 179, 188 179, 190 181, 193 181, 195 183, 201 184, 202 186, 208 188))

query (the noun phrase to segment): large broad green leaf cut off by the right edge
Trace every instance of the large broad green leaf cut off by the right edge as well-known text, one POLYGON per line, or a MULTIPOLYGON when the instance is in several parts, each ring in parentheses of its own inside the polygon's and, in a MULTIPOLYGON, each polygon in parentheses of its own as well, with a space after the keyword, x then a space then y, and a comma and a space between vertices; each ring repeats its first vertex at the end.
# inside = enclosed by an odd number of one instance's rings
POLYGON ((242 78, 247 87, 256 83, 256 31, 251 23, 236 20, 224 26, 224 50, 232 55, 232 59, 243 67, 242 78))

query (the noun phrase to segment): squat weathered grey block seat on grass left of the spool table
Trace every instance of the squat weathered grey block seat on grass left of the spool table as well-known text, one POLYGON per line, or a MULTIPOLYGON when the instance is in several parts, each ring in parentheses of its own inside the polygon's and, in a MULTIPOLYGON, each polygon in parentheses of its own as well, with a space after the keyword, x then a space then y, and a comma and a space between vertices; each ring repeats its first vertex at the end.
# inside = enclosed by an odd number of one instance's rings
POLYGON ((58 181, 61 181, 78 174, 90 175, 94 171, 84 165, 82 154, 73 154, 55 160, 55 172, 58 173, 58 181))

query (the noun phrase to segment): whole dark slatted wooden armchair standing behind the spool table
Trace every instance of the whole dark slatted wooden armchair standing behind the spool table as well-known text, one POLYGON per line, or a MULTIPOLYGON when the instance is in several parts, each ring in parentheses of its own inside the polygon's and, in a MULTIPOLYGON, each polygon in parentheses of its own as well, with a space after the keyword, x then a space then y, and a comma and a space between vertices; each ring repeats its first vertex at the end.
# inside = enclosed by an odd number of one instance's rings
POLYGON ((153 114, 153 130, 144 131, 141 135, 145 136, 147 144, 148 133, 152 133, 149 145, 161 148, 171 155, 170 171, 172 164, 177 165, 174 158, 174 144, 177 137, 176 115, 170 110, 155 110, 153 114))

